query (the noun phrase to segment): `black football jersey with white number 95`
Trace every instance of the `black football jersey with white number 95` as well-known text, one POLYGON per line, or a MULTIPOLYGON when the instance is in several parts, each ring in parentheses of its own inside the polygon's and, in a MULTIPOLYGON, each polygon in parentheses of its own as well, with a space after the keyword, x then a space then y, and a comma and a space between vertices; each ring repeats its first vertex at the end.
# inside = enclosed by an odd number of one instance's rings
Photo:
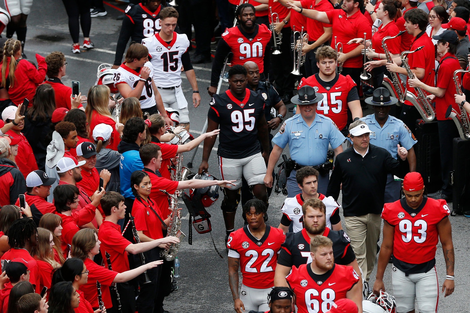
POLYGON ((207 117, 219 123, 219 156, 243 159, 261 152, 257 124, 264 117, 265 100, 246 89, 245 99, 237 99, 227 90, 214 94, 207 117))

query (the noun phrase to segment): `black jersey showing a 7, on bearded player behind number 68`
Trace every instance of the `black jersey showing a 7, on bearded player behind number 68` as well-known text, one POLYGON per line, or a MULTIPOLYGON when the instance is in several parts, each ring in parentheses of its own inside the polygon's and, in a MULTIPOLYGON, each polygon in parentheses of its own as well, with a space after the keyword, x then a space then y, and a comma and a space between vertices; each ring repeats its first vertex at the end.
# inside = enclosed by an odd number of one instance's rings
MULTIPOLYGON (((336 264, 348 265, 356 258, 354 251, 352 251, 351 240, 344 230, 336 231, 327 227, 323 236, 330 238, 333 242, 333 256, 336 264)), ((308 237, 306 229, 304 228, 297 233, 287 233, 277 263, 287 267, 299 267, 310 262, 312 262, 310 237, 308 237)))

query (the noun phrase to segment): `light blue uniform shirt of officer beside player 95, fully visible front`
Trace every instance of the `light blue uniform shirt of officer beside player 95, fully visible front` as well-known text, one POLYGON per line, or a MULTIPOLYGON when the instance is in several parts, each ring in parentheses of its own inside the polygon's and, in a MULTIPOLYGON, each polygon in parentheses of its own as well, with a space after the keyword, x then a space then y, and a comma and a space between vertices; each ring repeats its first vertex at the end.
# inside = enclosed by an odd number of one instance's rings
POLYGON ((289 144, 292 160, 300 165, 317 166, 326 161, 328 144, 336 149, 345 139, 329 117, 316 114, 308 127, 302 115, 296 114, 282 123, 273 144, 282 149, 289 144))

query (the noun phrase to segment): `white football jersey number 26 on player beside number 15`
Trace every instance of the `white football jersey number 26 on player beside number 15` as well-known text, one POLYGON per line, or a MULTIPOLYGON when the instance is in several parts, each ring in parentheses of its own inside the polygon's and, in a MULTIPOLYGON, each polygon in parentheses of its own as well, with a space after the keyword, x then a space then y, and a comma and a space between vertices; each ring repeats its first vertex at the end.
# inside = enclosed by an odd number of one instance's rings
MULTIPOLYGON (((147 66, 150 69, 150 76, 149 78, 147 78, 147 81, 145 82, 145 87, 142 89, 141 97, 139 98, 142 109, 157 105, 152 89, 152 63, 150 63, 149 61, 145 62, 144 66, 147 66)), ((125 63, 121 64, 121 66, 114 72, 114 85, 118 86, 118 84, 125 83, 131 86, 132 90, 134 90, 137 86, 137 83, 139 82, 139 78, 141 78, 139 76, 141 70, 142 69, 139 69, 139 72, 137 72, 135 69, 127 67, 125 63)))

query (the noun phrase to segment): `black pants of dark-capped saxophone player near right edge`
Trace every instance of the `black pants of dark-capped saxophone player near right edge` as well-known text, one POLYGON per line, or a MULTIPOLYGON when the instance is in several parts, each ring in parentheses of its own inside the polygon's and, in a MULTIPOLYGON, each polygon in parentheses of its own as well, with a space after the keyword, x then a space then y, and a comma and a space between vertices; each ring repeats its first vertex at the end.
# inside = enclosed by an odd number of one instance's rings
POLYGON ((452 141, 459 137, 459 131, 454 121, 438 121, 439 146, 441 157, 442 191, 446 196, 452 196, 452 186, 450 184, 450 172, 452 171, 453 152, 452 141))

